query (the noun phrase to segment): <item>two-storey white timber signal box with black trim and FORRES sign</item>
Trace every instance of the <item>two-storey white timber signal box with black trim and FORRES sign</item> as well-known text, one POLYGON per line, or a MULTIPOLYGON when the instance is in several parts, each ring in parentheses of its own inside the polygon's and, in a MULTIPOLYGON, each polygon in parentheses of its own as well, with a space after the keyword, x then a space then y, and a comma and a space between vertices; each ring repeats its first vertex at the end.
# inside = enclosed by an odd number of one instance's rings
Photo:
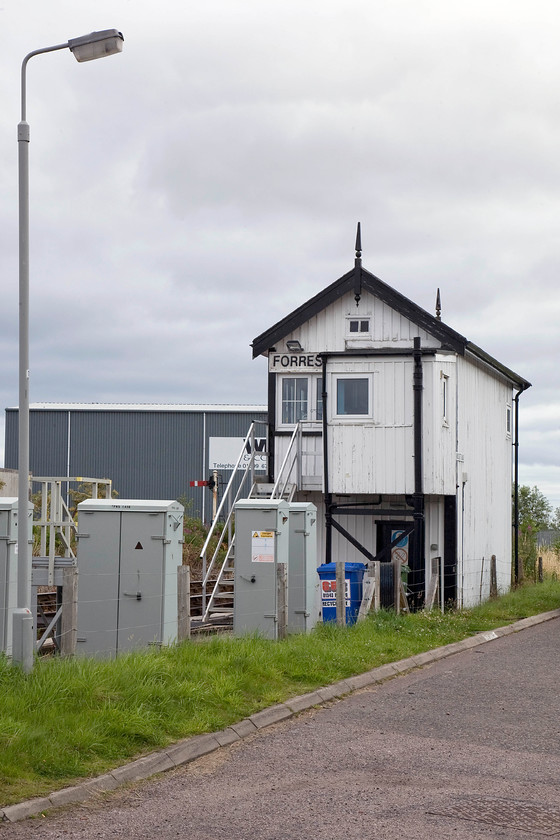
POLYGON ((268 357, 269 480, 297 446, 297 495, 319 512, 320 562, 403 560, 423 606, 511 584, 517 406, 530 383, 362 267, 253 341, 268 357), (514 416, 515 408, 515 416, 514 416), (515 459, 514 456, 515 455, 515 459))

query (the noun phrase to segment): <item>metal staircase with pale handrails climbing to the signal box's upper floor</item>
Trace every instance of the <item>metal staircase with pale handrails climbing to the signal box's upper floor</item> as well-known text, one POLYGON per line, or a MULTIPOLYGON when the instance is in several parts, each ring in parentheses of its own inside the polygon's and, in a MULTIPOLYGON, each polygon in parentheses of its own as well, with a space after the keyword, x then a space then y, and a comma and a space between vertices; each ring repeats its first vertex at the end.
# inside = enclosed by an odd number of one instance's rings
POLYGON ((255 458, 255 424, 252 423, 243 441, 243 448, 237 459, 231 478, 224 491, 222 501, 216 511, 216 517, 202 547, 202 622, 208 622, 217 615, 233 615, 234 571, 235 559, 235 504, 240 499, 285 499, 290 502, 297 490, 297 480, 292 479, 294 469, 297 469, 297 442, 301 439, 299 424, 294 429, 290 446, 274 484, 267 484, 256 480, 254 475, 255 458), (243 461, 247 451, 251 460, 247 466, 243 461), (243 466, 242 466, 243 465, 243 466), (241 473, 241 474, 240 474, 241 473), (248 481, 247 479, 250 479, 248 481), (235 489, 237 486, 237 490, 235 489), (223 520, 223 521, 222 521, 223 520), (218 534, 219 528, 221 532, 218 534), (218 536, 217 536, 218 535, 218 536), (217 536, 217 540, 216 540, 217 536), (214 551, 210 556, 210 545, 216 540, 214 551), (220 564, 220 557, 225 557, 220 564), (219 568, 218 568, 219 567, 219 568), (218 571, 217 577, 214 575, 218 571))

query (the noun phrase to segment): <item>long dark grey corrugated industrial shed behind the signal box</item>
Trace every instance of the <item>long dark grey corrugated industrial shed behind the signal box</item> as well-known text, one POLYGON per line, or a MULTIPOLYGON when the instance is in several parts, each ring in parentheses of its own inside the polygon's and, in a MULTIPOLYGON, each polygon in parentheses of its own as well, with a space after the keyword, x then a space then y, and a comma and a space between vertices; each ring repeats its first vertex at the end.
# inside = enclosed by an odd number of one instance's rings
MULTIPOLYGON (((210 515, 210 494, 190 482, 217 469, 227 481, 252 421, 264 405, 35 403, 30 407, 30 469, 38 476, 108 478, 121 498, 183 499, 210 515)), ((259 427, 257 427, 259 428, 259 427)), ((258 434, 258 432, 257 432, 258 434)), ((17 468, 18 409, 6 409, 6 468, 17 468)), ((262 458, 262 469, 264 465, 262 458)))

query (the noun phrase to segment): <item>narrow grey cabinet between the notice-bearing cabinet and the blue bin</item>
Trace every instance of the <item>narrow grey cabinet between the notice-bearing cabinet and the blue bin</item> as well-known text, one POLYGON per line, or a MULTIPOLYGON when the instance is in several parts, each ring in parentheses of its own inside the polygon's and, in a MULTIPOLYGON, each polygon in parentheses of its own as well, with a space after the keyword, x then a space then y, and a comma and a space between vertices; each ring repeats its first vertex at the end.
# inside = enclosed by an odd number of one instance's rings
POLYGON ((290 502, 288 558, 288 632, 308 633, 319 621, 317 508, 290 502))

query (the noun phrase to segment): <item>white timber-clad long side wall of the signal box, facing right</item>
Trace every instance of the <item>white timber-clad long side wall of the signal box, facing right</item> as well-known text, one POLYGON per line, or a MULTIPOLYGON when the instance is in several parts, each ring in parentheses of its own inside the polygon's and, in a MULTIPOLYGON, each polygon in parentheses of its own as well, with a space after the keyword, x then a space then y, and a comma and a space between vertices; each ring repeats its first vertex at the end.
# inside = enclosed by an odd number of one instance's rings
POLYGON ((457 376, 458 572, 469 606, 488 597, 493 554, 498 588, 511 583, 512 438, 506 408, 512 387, 473 358, 457 360, 457 376))

